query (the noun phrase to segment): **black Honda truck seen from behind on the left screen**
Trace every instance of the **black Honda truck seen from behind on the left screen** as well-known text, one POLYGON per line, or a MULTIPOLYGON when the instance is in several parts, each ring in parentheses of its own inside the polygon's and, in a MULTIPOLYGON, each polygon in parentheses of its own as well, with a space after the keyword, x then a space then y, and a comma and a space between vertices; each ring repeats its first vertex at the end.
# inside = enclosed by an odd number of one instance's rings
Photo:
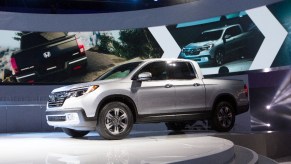
POLYGON ((86 70, 85 48, 75 35, 33 32, 20 38, 20 50, 10 59, 17 82, 41 81, 57 73, 86 70))

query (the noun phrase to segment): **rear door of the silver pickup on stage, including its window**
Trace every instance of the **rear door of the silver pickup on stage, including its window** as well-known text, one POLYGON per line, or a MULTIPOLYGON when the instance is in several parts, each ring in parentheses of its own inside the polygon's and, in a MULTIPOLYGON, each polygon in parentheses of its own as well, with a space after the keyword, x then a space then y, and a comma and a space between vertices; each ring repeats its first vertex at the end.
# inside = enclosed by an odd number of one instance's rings
POLYGON ((168 64, 169 80, 175 87, 176 113, 205 110, 205 87, 190 62, 175 61, 168 64))

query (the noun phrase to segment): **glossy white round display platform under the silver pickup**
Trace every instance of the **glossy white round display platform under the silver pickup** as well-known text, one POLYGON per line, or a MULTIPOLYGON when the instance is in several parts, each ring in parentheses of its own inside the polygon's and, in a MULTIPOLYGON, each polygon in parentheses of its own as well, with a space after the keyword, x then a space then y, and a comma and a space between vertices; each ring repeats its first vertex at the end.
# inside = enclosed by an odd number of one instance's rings
MULTIPOLYGON (((257 163, 254 151, 213 137, 214 133, 132 133, 109 141, 90 133, 1 134, 1 163, 257 163)), ((271 161, 270 163, 275 163, 271 161)))

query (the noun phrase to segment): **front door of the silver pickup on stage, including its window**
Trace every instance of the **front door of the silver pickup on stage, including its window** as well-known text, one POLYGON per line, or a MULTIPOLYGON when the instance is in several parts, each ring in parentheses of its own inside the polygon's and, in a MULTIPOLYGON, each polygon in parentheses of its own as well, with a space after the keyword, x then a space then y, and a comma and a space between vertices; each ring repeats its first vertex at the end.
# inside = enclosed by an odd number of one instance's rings
POLYGON ((165 61, 147 64, 137 75, 150 72, 152 79, 136 82, 135 91, 137 107, 140 115, 166 114, 175 110, 175 88, 167 80, 167 66, 165 61))

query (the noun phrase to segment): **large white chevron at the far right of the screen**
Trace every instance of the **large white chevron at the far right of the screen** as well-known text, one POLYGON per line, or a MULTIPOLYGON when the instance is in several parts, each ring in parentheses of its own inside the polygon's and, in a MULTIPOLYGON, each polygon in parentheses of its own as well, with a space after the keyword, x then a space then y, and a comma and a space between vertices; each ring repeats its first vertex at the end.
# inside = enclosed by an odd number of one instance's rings
POLYGON ((250 70, 269 68, 288 32, 266 6, 247 10, 246 13, 265 36, 250 70))

